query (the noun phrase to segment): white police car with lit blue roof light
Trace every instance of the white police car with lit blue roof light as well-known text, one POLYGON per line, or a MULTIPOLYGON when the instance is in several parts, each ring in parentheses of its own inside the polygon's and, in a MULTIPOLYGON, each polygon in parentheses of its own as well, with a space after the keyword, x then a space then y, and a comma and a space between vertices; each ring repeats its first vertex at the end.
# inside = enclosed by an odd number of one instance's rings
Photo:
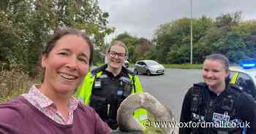
POLYGON ((241 90, 256 98, 256 68, 243 64, 231 66, 230 71, 230 83, 238 85, 241 90))

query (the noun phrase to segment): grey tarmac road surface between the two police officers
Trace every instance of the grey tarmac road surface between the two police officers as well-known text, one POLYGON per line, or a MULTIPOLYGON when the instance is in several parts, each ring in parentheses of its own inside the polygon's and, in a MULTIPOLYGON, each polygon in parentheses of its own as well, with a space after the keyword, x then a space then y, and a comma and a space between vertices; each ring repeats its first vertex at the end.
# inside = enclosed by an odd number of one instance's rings
MULTIPOLYGON (((129 68, 133 70, 133 68, 129 68)), ((197 69, 166 68, 164 75, 140 75, 144 92, 154 95, 161 103, 170 107, 179 120, 184 95, 193 83, 201 82, 201 71, 197 69)))

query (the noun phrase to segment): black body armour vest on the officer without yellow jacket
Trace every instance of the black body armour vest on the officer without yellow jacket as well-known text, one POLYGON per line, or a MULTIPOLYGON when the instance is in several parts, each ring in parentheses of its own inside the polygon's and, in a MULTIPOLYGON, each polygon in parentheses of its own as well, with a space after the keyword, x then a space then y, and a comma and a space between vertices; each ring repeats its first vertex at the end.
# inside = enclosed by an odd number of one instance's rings
POLYGON ((238 126, 241 122, 236 111, 241 92, 232 91, 236 90, 233 88, 226 89, 223 92, 225 95, 211 99, 206 83, 194 84, 192 88, 191 119, 192 122, 200 122, 200 126, 192 127, 193 134, 240 134, 242 132, 241 127, 227 126, 227 124, 238 126))

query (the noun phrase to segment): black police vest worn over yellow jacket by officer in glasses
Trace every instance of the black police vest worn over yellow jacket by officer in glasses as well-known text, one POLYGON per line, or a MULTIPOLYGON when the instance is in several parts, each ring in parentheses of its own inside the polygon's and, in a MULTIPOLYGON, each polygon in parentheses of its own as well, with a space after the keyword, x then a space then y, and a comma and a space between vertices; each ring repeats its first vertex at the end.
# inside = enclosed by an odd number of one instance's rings
POLYGON ((107 65, 91 71, 92 74, 102 71, 102 75, 94 79, 90 106, 111 129, 116 130, 117 110, 121 102, 132 92, 134 82, 130 81, 128 74, 133 73, 127 68, 122 68, 120 74, 113 76, 110 71, 105 70, 106 68, 107 65))

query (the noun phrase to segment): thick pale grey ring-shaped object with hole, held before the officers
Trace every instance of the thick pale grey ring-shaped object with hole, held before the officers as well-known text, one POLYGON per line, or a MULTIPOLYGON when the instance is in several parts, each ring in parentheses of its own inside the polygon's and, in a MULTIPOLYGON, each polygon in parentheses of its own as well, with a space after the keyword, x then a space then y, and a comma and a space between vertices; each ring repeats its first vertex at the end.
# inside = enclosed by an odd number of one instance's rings
POLYGON ((153 122, 176 122, 170 109, 159 103, 153 95, 148 92, 133 93, 129 95, 118 108, 117 111, 118 130, 111 134, 177 134, 176 127, 154 127, 153 122), (143 122, 146 129, 140 127, 140 123, 133 118, 133 113, 137 109, 146 109, 148 119, 143 122), (153 117, 153 120, 150 118, 153 117), (151 120, 149 120, 151 119, 151 120))

